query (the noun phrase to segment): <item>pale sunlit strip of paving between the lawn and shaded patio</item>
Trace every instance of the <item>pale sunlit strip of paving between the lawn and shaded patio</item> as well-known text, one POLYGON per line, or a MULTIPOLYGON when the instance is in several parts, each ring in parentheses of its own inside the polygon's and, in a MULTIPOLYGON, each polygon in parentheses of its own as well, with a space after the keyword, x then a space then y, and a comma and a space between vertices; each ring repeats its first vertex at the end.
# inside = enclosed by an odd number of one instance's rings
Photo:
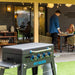
POLYGON ((55 62, 75 61, 75 52, 56 53, 55 62))

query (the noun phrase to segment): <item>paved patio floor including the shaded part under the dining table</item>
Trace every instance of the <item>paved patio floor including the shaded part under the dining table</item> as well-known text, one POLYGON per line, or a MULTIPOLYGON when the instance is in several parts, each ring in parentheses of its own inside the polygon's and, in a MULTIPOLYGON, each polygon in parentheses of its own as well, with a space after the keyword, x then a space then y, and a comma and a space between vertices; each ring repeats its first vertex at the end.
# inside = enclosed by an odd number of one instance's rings
POLYGON ((56 55, 57 57, 55 57, 55 62, 75 61, 75 49, 73 52, 71 49, 70 52, 68 52, 68 48, 63 47, 62 53, 60 53, 60 50, 57 50, 56 55))

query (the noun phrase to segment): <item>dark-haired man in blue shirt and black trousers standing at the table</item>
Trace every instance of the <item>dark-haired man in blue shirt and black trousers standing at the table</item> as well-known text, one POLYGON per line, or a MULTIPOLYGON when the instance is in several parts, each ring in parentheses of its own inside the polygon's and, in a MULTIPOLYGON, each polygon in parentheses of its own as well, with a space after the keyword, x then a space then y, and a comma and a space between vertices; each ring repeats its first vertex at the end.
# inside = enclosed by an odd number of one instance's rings
POLYGON ((57 44, 57 37, 58 33, 61 33, 60 26, 59 26, 59 19, 58 17, 61 15, 61 12, 59 10, 55 11, 55 14, 53 14, 50 17, 50 25, 49 25, 49 32, 52 37, 52 43, 54 44, 54 51, 56 52, 56 44, 57 44))

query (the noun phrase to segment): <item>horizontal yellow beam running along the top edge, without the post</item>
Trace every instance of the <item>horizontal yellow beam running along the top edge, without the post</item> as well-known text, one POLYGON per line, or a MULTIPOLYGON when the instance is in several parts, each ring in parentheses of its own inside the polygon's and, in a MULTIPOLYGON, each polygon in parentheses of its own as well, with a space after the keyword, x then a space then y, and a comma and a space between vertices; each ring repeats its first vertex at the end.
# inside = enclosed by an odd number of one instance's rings
POLYGON ((75 4, 75 0, 0 0, 0 2, 38 2, 38 3, 60 3, 60 4, 75 4))

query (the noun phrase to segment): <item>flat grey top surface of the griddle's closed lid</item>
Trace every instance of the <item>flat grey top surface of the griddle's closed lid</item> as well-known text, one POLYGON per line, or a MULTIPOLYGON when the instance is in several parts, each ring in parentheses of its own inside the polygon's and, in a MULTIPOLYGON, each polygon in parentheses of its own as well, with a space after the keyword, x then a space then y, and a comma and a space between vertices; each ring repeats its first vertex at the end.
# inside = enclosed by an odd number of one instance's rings
POLYGON ((18 49, 18 50, 29 50, 41 47, 48 47, 53 46, 53 44, 46 44, 46 43, 27 43, 27 44, 18 44, 13 46, 4 46, 3 48, 9 49, 18 49))

